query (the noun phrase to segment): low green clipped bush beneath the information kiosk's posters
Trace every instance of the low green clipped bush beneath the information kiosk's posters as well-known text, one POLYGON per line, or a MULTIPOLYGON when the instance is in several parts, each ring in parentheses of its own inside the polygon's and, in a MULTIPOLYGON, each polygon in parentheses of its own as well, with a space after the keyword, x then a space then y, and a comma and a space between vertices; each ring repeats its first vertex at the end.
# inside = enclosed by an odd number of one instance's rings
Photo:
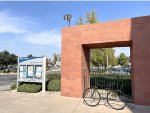
POLYGON ((38 93, 42 89, 42 85, 38 83, 21 83, 18 92, 38 93))

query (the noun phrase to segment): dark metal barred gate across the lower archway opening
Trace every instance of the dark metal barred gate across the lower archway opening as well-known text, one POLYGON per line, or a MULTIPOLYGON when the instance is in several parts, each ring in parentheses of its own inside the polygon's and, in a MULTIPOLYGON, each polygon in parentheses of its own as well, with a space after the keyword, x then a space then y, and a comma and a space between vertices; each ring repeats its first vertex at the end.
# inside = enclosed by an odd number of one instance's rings
MULTIPOLYGON (((85 76, 88 70, 83 72, 85 76)), ((108 89, 112 89, 121 90, 127 96, 127 102, 132 102, 131 71, 129 69, 95 69, 89 73, 90 87, 96 86, 103 99, 107 97, 108 89)), ((86 80, 85 84, 87 84, 86 80)))

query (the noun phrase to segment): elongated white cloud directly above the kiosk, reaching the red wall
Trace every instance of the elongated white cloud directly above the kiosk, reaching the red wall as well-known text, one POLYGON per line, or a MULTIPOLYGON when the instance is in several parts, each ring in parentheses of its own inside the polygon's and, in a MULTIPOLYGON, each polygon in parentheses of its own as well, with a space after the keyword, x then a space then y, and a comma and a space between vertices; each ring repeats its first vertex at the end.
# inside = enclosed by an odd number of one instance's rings
POLYGON ((55 30, 43 31, 38 33, 29 33, 26 36, 20 38, 19 40, 33 45, 41 45, 41 46, 49 45, 60 47, 61 45, 60 33, 55 30))

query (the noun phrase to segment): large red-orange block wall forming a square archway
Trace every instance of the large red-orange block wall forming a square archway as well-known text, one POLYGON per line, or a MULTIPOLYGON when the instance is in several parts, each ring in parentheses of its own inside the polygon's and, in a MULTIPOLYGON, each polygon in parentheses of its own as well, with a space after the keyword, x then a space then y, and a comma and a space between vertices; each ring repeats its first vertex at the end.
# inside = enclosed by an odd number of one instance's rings
POLYGON ((89 48, 130 46, 134 102, 150 105, 150 16, 62 29, 61 95, 82 97, 89 48))

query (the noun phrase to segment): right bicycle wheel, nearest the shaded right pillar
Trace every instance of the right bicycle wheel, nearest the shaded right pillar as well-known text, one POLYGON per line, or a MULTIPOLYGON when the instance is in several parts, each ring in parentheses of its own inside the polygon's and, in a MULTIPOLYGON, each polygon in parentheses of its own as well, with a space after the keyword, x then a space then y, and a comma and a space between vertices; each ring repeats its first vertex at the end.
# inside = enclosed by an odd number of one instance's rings
POLYGON ((116 110, 124 109, 127 105, 126 95, 120 90, 111 90, 107 95, 107 103, 116 110))

